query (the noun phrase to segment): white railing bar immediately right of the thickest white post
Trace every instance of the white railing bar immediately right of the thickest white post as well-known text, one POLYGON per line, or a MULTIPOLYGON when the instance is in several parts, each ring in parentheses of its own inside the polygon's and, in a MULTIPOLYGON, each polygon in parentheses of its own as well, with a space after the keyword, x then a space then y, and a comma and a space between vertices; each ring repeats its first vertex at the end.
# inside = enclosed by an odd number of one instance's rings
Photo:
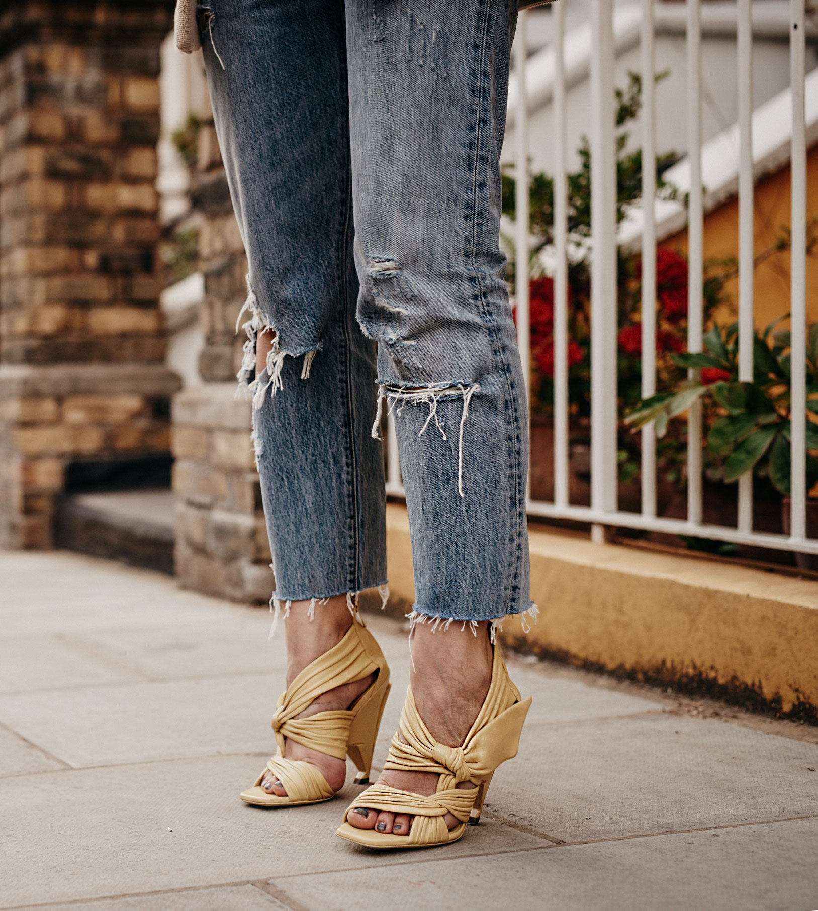
MULTIPOLYGON (((656 82, 653 0, 642 0, 642 398, 656 394, 656 82)), ((642 515, 656 516, 656 430, 642 428, 642 515)))

